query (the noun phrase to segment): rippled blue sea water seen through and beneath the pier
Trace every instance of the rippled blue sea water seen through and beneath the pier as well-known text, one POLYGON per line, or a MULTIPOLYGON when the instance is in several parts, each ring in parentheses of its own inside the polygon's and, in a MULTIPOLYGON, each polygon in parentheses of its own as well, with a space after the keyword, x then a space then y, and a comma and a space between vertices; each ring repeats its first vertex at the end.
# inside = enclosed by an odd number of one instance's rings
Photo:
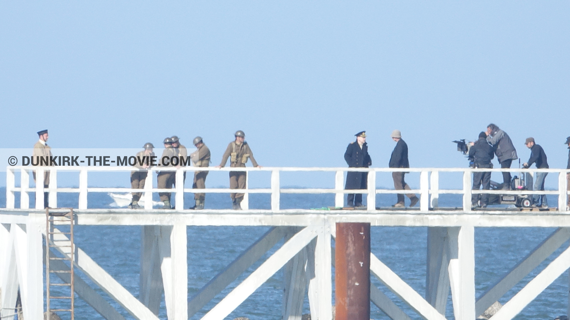
MULTIPOLYGON (((0 188, 0 207, 5 207, 5 188, 0 188)), ((155 194, 156 196, 156 194, 155 194)), ((31 197, 33 198, 33 197, 31 197)), ((390 206, 396 202, 395 195, 379 194, 378 206, 390 206)), ((158 200, 157 198, 155 200, 158 200)), ((409 201, 406 199, 406 201, 409 201)), ((549 203, 556 203, 555 196, 549 196, 549 203)), ((17 196, 16 206, 19 206, 17 196)), ((30 206, 34 206, 31 200, 30 206)), ((109 208, 113 200, 105 193, 89 193, 89 207, 109 208)), ((193 203, 192 194, 186 194, 185 203, 193 203)), ((282 194, 281 207, 320 208, 333 205, 332 195, 282 194)), ((441 195, 440 206, 461 206, 461 196, 441 195)), ((58 195, 60 207, 77 207, 77 194, 58 195)), ((231 206, 227 194, 208 194, 206 209, 227 209, 231 206)), ((252 194, 250 196, 252 209, 269 209, 270 196, 252 194)), ((322 212, 322 211, 320 211, 322 212)), ((194 227, 188 230, 188 296, 193 297, 212 277, 222 271, 243 250, 249 247, 269 227, 194 227)), ((555 228, 475 228, 475 285, 476 295, 479 296, 508 272, 520 259, 526 256, 555 228)), ((425 295, 426 278, 426 227, 372 227, 372 252, 388 267, 397 273, 413 289, 422 296, 425 295)), ((140 266, 140 226, 75 226, 75 243, 82 248, 93 260, 113 276, 133 296, 139 296, 139 266, 140 266)), ((218 294, 214 301, 207 304, 192 319, 200 319, 207 310, 226 296, 235 286, 243 281, 255 268, 274 253, 283 242, 276 244, 259 261, 254 263, 243 275, 218 294)), ((334 241, 332 242, 334 245, 334 241)), ((504 304, 528 281, 537 275, 544 267, 560 254, 568 243, 564 244, 549 259, 544 261, 529 276, 499 299, 504 304)), ((334 272, 334 270, 333 270, 334 272)), ((99 287, 93 284, 86 275, 77 271, 97 292, 115 307, 127 319, 133 319, 122 307, 107 296, 99 287)), ((333 273, 334 274, 334 273, 333 273)), ((388 289, 372 277, 372 284, 396 301, 412 319, 420 319, 408 306, 398 300, 388 289)), ((275 273, 267 282, 247 298, 226 319, 247 317, 251 320, 279 320, 281 318, 283 296, 283 274, 275 273)), ((334 293, 333 293, 334 303, 334 293)), ((568 305, 568 274, 562 276, 548 286, 543 293, 531 302, 516 317, 516 319, 553 319, 567 313, 568 305)), ((308 301, 304 304, 304 313, 309 313, 308 301)), ((62 318, 67 315, 62 313, 62 318)), ((447 319, 453 319, 451 298, 447 304, 447 319)), ((103 319, 95 310, 80 298, 75 300, 76 319, 103 319)), ((159 318, 166 319, 164 302, 161 304, 159 318)), ((370 318, 389 319, 373 304, 370 318)))

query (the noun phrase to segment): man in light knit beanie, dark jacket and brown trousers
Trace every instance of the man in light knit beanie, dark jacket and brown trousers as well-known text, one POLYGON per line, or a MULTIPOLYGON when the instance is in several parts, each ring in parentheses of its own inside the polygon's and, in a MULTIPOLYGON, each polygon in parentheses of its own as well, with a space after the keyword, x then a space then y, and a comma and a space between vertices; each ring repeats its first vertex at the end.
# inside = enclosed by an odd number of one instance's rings
MULTIPOLYGON (((410 163, 408 161, 408 145, 404 142, 404 140, 402 140, 402 134, 400 130, 392 131, 391 137, 392 140, 394 140, 397 143, 396 147, 394 148, 394 151, 392 151, 392 156, 390 156, 389 167, 409 168, 410 163)), ((406 184, 406 181, 404 181, 404 174, 406 174, 406 172, 392 172, 392 178, 394 179, 394 189, 410 190, 410 186, 406 184)), ((393 207, 398 207, 398 208, 405 207, 404 194, 398 193, 397 196, 398 196, 398 202, 396 202, 396 204, 393 205, 393 207)), ((418 203, 418 201, 420 200, 413 193, 406 194, 406 196, 410 198, 410 207, 415 206, 416 203, 418 203)))

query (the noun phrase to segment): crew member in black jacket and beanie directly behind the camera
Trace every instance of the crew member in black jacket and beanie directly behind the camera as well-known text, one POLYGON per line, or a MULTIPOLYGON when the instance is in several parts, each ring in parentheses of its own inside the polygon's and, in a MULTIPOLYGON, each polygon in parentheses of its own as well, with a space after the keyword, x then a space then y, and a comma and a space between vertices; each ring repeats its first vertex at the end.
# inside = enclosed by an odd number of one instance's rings
MULTIPOLYGON (((487 134, 481 132, 479 134, 479 140, 469 148, 469 159, 473 160, 475 168, 492 168, 491 159, 494 157, 493 148, 487 143, 487 134)), ((471 189, 479 190, 481 185, 483 185, 483 190, 491 188, 491 172, 473 172, 473 188, 471 189)), ((487 193, 473 194, 473 196, 471 196, 472 205, 474 207, 477 206, 479 198, 481 198, 481 207, 487 207, 489 198, 487 193)))

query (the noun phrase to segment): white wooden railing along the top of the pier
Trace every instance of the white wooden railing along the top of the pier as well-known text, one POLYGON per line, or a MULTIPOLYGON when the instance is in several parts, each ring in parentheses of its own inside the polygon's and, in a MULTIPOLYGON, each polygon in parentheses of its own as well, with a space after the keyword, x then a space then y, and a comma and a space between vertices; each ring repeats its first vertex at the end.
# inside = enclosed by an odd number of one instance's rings
MULTIPOLYGON (((44 192, 49 192, 49 203, 51 207, 57 207, 57 194, 63 193, 79 193, 79 209, 87 209, 87 194, 93 192, 143 192, 143 199, 145 202, 145 210, 152 210, 152 194, 156 192, 171 192, 174 193, 174 200, 176 210, 184 210, 184 193, 231 193, 236 189, 229 188, 206 188, 206 189, 193 189, 185 188, 183 183, 184 172, 192 173, 194 171, 237 171, 237 168, 196 168, 196 167, 181 167, 181 168, 150 168, 148 171, 154 173, 156 171, 175 171, 176 184, 173 189, 157 189, 153 188, 153 180, 156 175, 148 174, 144 189, 131 189, 131 188, 90 188, 88 187, 88 173, 89 172, 130 172, 132 168, 121 167, 66 167, 60 169, 58 167, 7 167, 6 174, 6 208, 14 209, 15 207, 15 193, 19 192, 20 208, 29 209, 30 193, 35 197, 36 208, 43 209, 44 192), (35 188, 30 188, 30 172, 36 172, 37 181, 43 181, 44 171, 50 172, 50 185, 47 189, 43 185, 36 185, 35 188), (15 186, 15 173, 20 172, 21 183, 19 187, 15 186), (59 188, 57 182, 57 173, 59 171, 66 172, 79 172, 79 188, 59 188)), ((271 194, 271 211, 278 213, 280 209, 280 194, 282 193, 305 193, 305 194, 335 194, 335 207, 342 207, 344 204, 344 194, 346 193, 361 193, 367 194, 367 211, 376 210, 376 194, 397 194, 397 193, 418 193, 420 194, 420 211, 429 211, 430 209, 438 207, 438 198, 440 194, 462 194, 463 195, 463 208, 462 211, 470 212, 471 210, 471 195, 478 193, 487 194, 553 194, 558 196, 559 211, 567 211, 567 174, 570 172, 568 169, 473 169, 473 168, 303 168, 303 167, 263 167, 263 168, 239 168, 239 171, 256 172, 256 171, 269 171, 271 172, 271 188, 258 188, 258 189, 239 189, 240 193, 245 193, 242 202, 242 208, 249 209, 248 196, 251 193, 266 193, 271 194), (420 189, 413 190, 393 190, 393 189, 378 189, 376 186, 376 175, 378 172, 419 172, 420 173, 420 189), (349 171, 368 172, 368 189, 346 190, 344 189, 344 173, 349 171), (557 190, 545 191, 520 191, 520 190, 471 190, 471 173, 482 172, 511 172, 511 173, 531 173, 548 172, 551 176, 556 176, 558 179, 557 190), (334 188, 331 189, 292 189, 281 188, 280 186, 280 173, 282 172, 335 172, 334 188), (443 172, 460 172, 462 177, 462 189, 440 189, 439 188, 439 173, 443 172)))

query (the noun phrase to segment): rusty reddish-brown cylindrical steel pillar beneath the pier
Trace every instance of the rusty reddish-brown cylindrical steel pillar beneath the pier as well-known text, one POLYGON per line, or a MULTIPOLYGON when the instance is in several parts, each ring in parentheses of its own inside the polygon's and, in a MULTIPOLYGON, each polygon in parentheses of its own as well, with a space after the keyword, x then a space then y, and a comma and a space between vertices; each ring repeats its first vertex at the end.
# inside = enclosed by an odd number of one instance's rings
POLYGON ((370 223, 336 223, 335 315, 370 319, 370 223))

